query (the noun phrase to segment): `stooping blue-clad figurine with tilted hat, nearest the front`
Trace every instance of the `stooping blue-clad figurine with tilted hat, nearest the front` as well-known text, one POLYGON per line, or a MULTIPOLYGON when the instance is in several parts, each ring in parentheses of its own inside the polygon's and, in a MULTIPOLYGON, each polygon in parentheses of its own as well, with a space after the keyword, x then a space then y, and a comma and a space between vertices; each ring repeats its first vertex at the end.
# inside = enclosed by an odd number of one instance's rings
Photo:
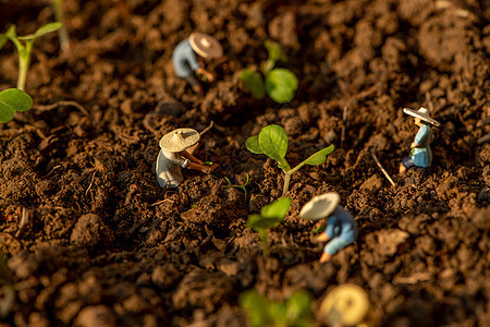
POLYGON ((329 262, 339 250, 353 244, 357 238, 357 223, 354 217, 339 206, 339 194, 326 193, 315 196, 299 211, 299 216, 306 220, 326 218, 326 230, 316 238, 317 242, 329 241, 323 249, 320 263, 329 262))

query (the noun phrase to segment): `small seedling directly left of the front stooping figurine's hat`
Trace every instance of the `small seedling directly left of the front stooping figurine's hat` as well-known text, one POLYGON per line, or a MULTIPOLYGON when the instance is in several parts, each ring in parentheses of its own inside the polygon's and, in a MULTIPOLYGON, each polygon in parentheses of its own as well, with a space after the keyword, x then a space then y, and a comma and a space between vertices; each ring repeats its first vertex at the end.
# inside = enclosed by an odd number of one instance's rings
POLYGON ((284 220, 285 215, 290 210, 291 199, 283 197, 274 201, 270 205, 260 209, 260 215, 248 216, 247 227, 258 232, 264 247, 264 257, 269 256, 269 239, 268 230, 278 226, 284 220))

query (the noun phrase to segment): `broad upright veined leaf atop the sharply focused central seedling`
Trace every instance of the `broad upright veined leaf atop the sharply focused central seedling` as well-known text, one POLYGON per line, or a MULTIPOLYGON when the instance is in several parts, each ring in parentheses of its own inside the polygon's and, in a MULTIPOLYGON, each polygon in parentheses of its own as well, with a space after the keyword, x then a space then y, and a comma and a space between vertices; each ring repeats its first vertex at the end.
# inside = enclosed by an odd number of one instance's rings
POLYGON ((287 152, 287 134, 280 125, 265 126, 259 134, 258 144, 262 153, 284 166, 287 152))

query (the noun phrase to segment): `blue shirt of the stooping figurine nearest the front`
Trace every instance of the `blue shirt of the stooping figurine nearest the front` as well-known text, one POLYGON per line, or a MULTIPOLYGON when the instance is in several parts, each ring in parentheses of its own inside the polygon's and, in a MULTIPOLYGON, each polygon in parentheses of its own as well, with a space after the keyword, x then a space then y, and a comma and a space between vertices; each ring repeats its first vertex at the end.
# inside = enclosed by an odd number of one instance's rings
POLYGON ((354 243, 357 238, 357 223, 347 210, 338 206, 328 217, 324 232, 329 239, 340 238, 346 242, 354 243))

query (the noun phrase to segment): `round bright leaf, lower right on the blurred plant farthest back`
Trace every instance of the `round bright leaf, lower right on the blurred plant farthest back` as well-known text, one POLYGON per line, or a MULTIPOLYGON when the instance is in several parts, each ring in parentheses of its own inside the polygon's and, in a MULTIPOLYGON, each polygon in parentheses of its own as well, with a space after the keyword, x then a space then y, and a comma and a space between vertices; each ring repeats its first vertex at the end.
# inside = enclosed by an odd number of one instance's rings
POLYGON ((266 76, 266 92, 278 104, 289 102, 297 89, 297 78, 292 71, 274 69, 266 76))

